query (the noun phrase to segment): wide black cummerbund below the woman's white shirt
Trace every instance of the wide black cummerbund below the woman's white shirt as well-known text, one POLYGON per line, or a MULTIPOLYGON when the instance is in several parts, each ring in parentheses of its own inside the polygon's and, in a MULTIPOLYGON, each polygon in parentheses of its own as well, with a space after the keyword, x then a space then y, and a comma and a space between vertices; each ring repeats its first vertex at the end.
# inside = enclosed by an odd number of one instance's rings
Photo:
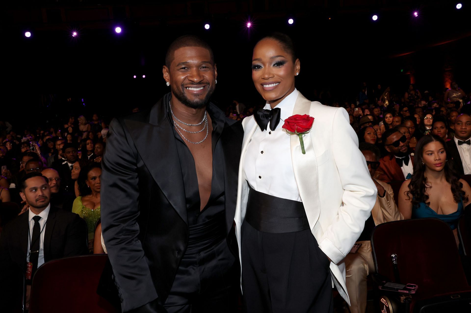
POLYGON ((310 229, 302 202, 270 196, 252 189, 245 220, 264 233, 292 233, 310 229))

